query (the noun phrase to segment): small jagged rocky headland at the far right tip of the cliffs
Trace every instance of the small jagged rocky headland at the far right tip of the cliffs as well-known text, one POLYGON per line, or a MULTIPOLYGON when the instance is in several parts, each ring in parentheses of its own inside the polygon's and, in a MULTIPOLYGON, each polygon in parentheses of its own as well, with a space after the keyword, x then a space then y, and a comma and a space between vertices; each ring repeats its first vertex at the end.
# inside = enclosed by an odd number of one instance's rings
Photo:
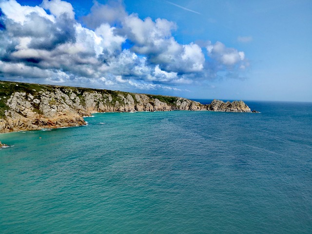
POLYGON ((213 100, 207 105, 209 111, 223 111, 223 112, 251 112, 250 108, 243 101, 227 101, 213 100))

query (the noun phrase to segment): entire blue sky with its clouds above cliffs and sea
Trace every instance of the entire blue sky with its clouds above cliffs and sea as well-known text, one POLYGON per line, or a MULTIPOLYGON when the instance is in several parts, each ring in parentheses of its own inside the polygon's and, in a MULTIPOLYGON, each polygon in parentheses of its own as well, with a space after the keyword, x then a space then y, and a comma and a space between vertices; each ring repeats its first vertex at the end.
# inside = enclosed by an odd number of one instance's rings
POLYGON ((0 0, 0 79, 312 101, 311 0, 0 0))

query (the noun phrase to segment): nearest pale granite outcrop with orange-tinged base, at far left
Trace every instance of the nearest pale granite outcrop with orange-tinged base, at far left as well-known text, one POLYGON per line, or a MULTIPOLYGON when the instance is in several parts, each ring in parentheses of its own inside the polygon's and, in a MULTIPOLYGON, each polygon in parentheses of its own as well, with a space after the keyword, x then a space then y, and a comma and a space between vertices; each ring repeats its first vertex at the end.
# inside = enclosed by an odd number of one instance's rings
POLYGON ((90 112, 78 101, 71 100, 59 89, 39 91, 36 97, 26 92, 15 92, 6 102, 9 108, 0 119, 0 133, 85 124, 82 116, 90 115, 90 112))

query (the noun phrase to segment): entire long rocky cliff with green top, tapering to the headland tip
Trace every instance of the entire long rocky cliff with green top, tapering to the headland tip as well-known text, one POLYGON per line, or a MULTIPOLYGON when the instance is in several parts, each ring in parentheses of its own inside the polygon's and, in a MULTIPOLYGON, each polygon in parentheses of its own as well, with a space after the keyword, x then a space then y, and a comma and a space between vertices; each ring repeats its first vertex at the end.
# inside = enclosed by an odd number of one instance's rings
POLYGON ((243 101, 203 105, 186 98, 0 81, 0 133, 83 125, 82 117, 95 112, 172 110, 250 112, 243 101))

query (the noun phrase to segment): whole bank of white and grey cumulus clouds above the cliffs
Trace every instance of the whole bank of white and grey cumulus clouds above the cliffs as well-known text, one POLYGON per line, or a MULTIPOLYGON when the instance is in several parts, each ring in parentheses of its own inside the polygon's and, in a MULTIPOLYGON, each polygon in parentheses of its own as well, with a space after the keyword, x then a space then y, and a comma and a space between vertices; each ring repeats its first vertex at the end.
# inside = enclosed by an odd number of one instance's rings
POLYGON ((121 1, 95 1, 83 18, 87 26, 63 0, 35 7, 2 0, 0 10, 0 77, 6 79, 182 91, 178 86, 247 66, 244 52, 221 42, 180 44, 175 22, 129 15, 121 1))

